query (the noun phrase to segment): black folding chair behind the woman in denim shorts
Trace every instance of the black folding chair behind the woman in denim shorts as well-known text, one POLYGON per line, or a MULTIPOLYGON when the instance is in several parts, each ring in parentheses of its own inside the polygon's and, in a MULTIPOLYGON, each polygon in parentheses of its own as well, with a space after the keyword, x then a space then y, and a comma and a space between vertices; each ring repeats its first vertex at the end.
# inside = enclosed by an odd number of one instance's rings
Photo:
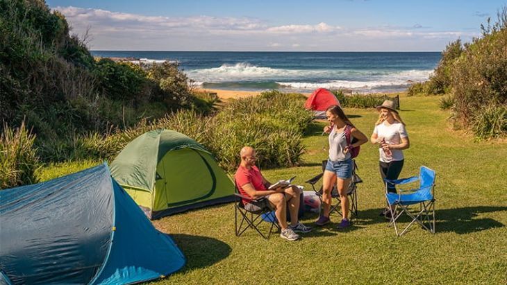
MULTIPOLYGON (((356 170, 358 169, 358 166, 356 164, 356 160, 352 159, 352 163, 354 164, 352 169, 352 180, 349 184, 349 189, 347 190, 347 196, 350 198, 350 212, 351 212, 351 219, 358 217, 358 192, 357 192, 357 184, 363 182, 363 180, 359 177, 359 175, 356 173, 356 170)), ((324 175, 324 171, 326 170, 326 164, 327 160, 322 161, 322 173, 319 173, 314 178, 311 178, 310 180, 307 180, 306 183, 312 185, 313 191, 317 194, 320 200, 320 209, 319 214, 322 214, 322 186, 317 190, 315 188, 315 184, 319 182, 320 178, 324 175)), ((329 211, 329 214, 333 213, 335 211, 340 216, 342 216, 342 207, 341 207, 341 200, 340 200, 340 194, 338 193, 338 189, 336 188, 336 185, 333 185, 333 189, 331 190, 331 197, 336 201, 335 205, 331 205, 331 210, 329 211)))

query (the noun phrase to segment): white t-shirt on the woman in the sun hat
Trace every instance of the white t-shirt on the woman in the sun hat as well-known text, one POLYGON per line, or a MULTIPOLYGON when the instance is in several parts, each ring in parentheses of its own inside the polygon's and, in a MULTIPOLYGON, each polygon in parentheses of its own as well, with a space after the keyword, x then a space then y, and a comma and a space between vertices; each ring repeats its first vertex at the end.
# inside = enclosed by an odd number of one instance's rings
MULTIPOLYGON (((386 125, 386 121, 375 126, 373 133, 376 134, 379 139, 384 138, 386 144, 401 144, 401 138, 408 137, 407 131, 403 123, 395 122, 390 125, 386 125)), ((399 149, 392 149, 392 156, 385 155, 382 148, 379 148, 380 161, 381 162, 392 162, 403 160, 403 152, 399 149)))

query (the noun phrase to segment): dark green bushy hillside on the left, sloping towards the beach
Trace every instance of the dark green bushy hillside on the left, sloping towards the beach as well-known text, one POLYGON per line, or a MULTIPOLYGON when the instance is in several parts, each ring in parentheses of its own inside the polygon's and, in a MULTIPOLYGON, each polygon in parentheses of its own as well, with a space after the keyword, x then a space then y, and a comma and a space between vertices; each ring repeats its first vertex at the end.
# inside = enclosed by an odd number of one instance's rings
POLYGON ((181 109, 212 112, 213 103, 192 96, 177 63, 96 62, 86 35, 69 32, 65 17, 44 1, 0 1, 0 121, 24 120, 44 161, 81 157, 76 147, 88 134, 111 126, 129 128, 181 109))

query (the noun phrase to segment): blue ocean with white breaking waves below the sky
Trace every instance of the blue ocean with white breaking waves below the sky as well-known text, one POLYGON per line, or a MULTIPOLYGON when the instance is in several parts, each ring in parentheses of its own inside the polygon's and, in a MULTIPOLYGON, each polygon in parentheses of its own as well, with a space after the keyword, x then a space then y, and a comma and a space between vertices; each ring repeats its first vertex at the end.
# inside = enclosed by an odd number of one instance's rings
POLYGON ((229 90, 318 87, 350 92, 399 92, 427 80, 440 52, 92 51, 92 55, 174 60, 199 87, 229 90))

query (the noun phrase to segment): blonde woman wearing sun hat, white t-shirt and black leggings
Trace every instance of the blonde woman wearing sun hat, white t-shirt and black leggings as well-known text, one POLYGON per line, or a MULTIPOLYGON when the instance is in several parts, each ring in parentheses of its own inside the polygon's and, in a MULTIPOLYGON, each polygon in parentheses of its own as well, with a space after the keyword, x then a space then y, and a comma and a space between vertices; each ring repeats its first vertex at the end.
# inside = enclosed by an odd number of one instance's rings
MULTIPOLYGON (((405 123, 395 107, 394 102, 390 100, 385 100, 382 105, 376 106, 376 110, 379 111, 379 120, 376 121, 370 138, 372 144, 379 145, 381 176, 389 180, 398 179, 404 164, 404 155, 401 150, 410 147, 405 123)), ((396 193, 394 185, 388 185, 388 192, 396 193)), ((381 213, 381 216, 389 217, 389 215, 389 209, 381 213)))

